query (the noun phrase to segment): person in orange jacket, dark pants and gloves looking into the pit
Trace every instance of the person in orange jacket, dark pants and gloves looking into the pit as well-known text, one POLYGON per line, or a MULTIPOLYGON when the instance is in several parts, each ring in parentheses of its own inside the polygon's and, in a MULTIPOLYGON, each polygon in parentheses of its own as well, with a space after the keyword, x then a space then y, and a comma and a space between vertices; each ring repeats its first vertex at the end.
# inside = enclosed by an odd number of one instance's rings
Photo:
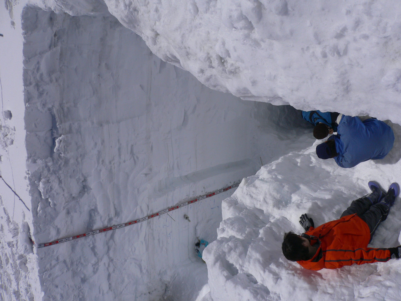
POLYGON ((351 264, 386 262, 401 256, 401 246, 368 248, 379 224, 389 214, 399 185, 392 183, 384 193, 374 181, 368 183, 372 193, 352 201, 339 220, 314 228, 312 218, 302 214, 300 224, 305 233, 284 234, 282 251, 291 261, 309 270, 341 268, 351 264))

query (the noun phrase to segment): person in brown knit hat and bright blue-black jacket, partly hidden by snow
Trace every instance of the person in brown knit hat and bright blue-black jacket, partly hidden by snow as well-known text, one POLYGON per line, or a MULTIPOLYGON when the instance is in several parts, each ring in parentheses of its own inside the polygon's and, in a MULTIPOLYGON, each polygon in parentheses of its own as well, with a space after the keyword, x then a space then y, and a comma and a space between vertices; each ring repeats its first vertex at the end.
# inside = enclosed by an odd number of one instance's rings
POLYGON ((302 111, 302 118, 309 121, 315 127, 313 129, 313 136, 316 139, 323 139, 337 132, 337 122, 336 119, 339 113, 337 112, 320 112, 316 111, 302 111))

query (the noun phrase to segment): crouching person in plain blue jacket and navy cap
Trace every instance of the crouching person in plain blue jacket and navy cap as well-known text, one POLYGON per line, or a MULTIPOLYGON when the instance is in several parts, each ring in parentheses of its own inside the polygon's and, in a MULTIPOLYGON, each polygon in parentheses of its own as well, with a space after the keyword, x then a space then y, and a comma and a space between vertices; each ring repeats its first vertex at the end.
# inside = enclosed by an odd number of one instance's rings
POLYGON ((316 146, 320 159, 334 158, 337 165, 354 167, 369 159, 383 159, 393 148, 394 133, 376 118, 362 121, 358 116, 342 116, 337 134, 316 146))

